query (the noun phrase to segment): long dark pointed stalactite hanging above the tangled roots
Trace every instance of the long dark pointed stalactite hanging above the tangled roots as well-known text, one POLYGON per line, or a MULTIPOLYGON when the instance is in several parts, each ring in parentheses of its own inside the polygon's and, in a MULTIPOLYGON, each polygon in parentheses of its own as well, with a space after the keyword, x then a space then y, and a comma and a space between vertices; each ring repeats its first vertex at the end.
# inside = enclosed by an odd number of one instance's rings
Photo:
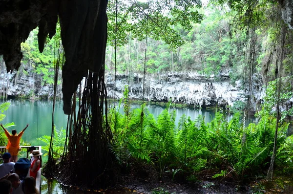
POLYGON ((105 63, 107 0, 63 0, 60 6, 63 66, 63 110, 71 114, 71 98, 88 70, 99 73, 105 63))

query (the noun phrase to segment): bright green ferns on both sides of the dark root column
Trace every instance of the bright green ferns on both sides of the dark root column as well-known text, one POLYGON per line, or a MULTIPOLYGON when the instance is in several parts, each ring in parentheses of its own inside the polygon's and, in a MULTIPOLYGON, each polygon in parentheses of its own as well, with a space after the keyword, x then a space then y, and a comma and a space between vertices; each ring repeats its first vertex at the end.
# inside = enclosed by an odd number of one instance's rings
MULTIPOLYGON (((183 115, 176 125, 176 112, 170 110, 171 106, 169 103, 157 118, 145 106, 130 111, 125 104, 124 114, 119 113, 120 106, 110 111, 114 140, 109 149, 123 173, 138 165, 142 172, 147 172, 149 166, 155 168, 158 180, 168 176, 172 181, 196 182, 204 178, 248 182, 267 175, 277 125, 268 111, 249 125, 240 119, 240 112, 228 121, 220 109, 210 123, 205 123, 202 116, 191 120, 183 115)), ((293 172, 293 135, 288 136, 288 125, 278 123, 276 176, 290 177, 293 172)), ((65 130, 55 129, 56 162, 63 156, 65 137, 65 130)), ((50 136, 39 139, 47 143, 42 149, 48 151, 50 136)))

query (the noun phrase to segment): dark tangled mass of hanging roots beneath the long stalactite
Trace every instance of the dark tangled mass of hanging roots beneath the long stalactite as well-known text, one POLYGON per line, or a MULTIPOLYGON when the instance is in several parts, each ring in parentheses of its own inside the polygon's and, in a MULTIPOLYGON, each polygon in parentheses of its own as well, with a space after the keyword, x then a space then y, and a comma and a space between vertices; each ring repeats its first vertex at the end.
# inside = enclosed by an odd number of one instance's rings
POLYGON ((72 122, 68 152, 59 167, 58 178, 63 184, 86 190, 117 182, 118 163, 108 150, 112 132, 104 120, 104 93, 104 69, 99 75, 88 73, 77 120, 72 122))

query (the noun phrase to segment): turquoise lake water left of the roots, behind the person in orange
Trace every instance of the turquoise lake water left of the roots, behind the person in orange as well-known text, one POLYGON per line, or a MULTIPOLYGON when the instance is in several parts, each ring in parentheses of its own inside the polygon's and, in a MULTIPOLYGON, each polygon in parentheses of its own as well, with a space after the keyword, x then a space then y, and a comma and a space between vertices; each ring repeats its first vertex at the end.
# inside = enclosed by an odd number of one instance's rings
MULTIPOLYGON (((7 100, 11 105, 8 110, 4 111, 6 115, 2 122, 14 122, 16 126, 8 128, 8 131, 16 129, 20 132, 28 123, 29 127, 22 135, 22 139, 31 145, 44 145, 38 141, 38 137, 51 134, 52 126, 52 101, 28 101, 28 100, 7 100)), ((54 113, 54 123, 57 128, 66 127, 67 115, 62 110, 63 103, 56 103, 54 113)))

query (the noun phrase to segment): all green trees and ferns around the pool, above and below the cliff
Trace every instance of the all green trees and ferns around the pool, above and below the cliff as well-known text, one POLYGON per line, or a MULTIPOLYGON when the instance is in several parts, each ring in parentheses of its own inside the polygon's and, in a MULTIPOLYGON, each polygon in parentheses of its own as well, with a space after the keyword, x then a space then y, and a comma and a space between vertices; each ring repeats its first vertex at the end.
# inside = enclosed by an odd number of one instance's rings
MULTIPOLYGON (((291 176, 293 136, 287 129, 293 115, 293 31, 281 19, 278 2, 212 0, 202 7, 195 1, 182 1, 190 3, 188 11, 196 10, 184 15, 186 21, 176 17, 182 18, 181 12, 168 17, 167 11, 163 12, 167 3, 156 7, 150 6, 153 1, 129 1, 117 7, 114 1, 109 2, 106 73, 158 77, 194 71, 219 77, 228 72, 231 83, 240 81, 246 91, 246 111, 235 113, 230 122, 221 109, 210 123, 202 117, 192 121, 184 115, 176 126, 176 112, 169 110, 171 103, 158 118, 149 114, 144 104, 130 111, 126 86, 125 114, 116 107, 105 117, 113 132, 110 151, 126 172, 134 163, 148 164, 155 167, 159 179, 166 173, 173 180, 182 174, 190 181, 203 175, 244 181, 268 174, 272 179, 273 169, 291 176), (195 22, 187 22, 189 19, 195 22), (266 87, 266 97, 255 115, 258 122, 247 126, 253 82, 258 79, 266 87)), ((42 84, 53 85, 54 64, 63 60, 60 37, 48 39, 44 52, 39 53, 36 34, 37 30, 33 31, 21 45, 23 59, 18 74, 32 73, 42 77, 42 84)), ((57 162, 63 156, 60 145, 65 143, 65 134, 55 131, 54 145, 58 147, 53 158, 57 162)), ((49 138, 40 140, 49 142, 49 138)))

